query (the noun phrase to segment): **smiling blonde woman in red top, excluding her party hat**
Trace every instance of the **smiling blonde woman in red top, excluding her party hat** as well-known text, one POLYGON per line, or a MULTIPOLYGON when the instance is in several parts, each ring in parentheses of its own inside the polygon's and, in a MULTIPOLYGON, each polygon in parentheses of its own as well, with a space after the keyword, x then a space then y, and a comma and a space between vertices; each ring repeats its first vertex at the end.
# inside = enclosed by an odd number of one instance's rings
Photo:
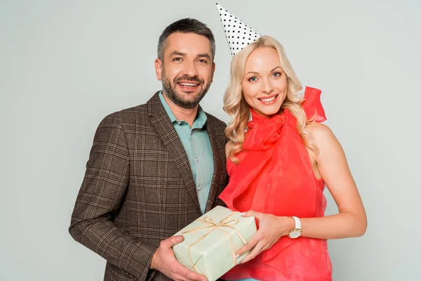
POLYGON ((224 110, 227 207, 254 216, 258 232, 227 280, 332 280, 328 239, 366 231, 366 213, 345 154, 323 124, 318 89, 302 89, 281 44, 263 36, 235 54, 224 110), (251 121, 250 120, 251 116, 251 121), (324 216, 328 187, 339 213, 324 216), (295 216, 293 218, 292 216, 295 216))

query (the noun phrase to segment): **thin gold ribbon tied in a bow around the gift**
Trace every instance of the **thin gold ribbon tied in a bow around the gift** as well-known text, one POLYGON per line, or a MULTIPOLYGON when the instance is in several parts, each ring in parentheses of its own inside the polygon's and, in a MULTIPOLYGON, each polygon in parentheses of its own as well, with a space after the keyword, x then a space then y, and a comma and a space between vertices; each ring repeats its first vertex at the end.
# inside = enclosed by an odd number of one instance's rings
MULTIPOLYGON (((201 223, 205 223, 206 226, 202 226, 200 228, 193 228, 193 229, 189 229, 189 230, 185 230, 182 231, 182 234, 185 233, 192 233, 194 231, 198 231, 198 230, 203 230, 206 228, 212 228, 208 233, 206 233, 205 235, 199 237, 198 240, 194 241, 192 244, 189 245, 189 248, 187 249, 188 253, 189 253, 189 259, 190 259, 190 263, 192 265, 192 269, 197 272, 196 270, 196 263, 193 263, 193 259, 192 259, 192 253, 190 252, 190 249, 192 249, 192 247, 201 242, 201 240, 203 240, 206 236, 208 236, 210 233, 213 232, 213 230, 218 229, 220 231, 222 231, 223 233, 227 233, 227 231, 221 229, 221 228, 232 228, 236 231, 237 235, 239 235, 241 241, 243 241, 244 244, 246 244, 246 240, 244 240, 243 236, 241 235, 241 233, 239 232, 239 230, 237 230, 236 228, 234 228, 234 226, 236 226, 236 224, 239 223, 239 220, 236 218, 232 218, 231 220, 229 220, 229 218, 234 215, 236 212, 230 214, 229 216, 226 216, 225 218, 222 218, 222 220, 219 223, 215 223, 215 221, 213 221, 212 218, 210 218, 209 216, 205 216, 203 219, 197 219, 196 221, 199 221, 201 223)), ((236 256, 235 256, 235 249, 234 249, 234 242, 232 241, 232 237, 229 233, 227 233, 227 235, 229 236, 229 240, 231 242, 231 252, 232 252, 232 260, 234 261, 234 265, 236 264, 236 256)))

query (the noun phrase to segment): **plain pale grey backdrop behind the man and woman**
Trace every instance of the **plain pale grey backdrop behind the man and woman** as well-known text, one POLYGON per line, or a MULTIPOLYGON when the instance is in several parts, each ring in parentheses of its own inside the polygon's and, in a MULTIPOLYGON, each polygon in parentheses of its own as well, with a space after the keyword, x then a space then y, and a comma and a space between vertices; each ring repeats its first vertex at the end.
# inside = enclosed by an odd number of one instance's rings
MULTIPOLYGON (((334 280, 421 280, 421 2, 219 4, 281 41, 302 84, 323 91, 368 214, 366 235, 329 241, 334 280)), ((158 37, 185 17, 215 34, 201 105, 228 122, 215 1, 0 0, 0 280, 102 280, 105 260, 67 233, 93 135, 161 89, 158 37)))

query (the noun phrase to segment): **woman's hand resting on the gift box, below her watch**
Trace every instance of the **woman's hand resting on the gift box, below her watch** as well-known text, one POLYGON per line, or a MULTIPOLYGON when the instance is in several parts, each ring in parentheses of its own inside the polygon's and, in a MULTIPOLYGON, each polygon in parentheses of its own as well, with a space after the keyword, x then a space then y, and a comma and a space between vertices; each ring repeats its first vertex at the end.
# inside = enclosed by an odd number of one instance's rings
POLYGON ((258 213, 257 211, 248 211, 242 216, 254 216, 257 218, 259 221, 259 230, 247 244, 236 252, 237 256, 241 256, 241 254, 251 249, 250 253, 241 263, 246 263, 254 259, 255 256, 272 247, 279 238, 288 235, 295 228, 294 219, 288 216, 274 216, 258 213))

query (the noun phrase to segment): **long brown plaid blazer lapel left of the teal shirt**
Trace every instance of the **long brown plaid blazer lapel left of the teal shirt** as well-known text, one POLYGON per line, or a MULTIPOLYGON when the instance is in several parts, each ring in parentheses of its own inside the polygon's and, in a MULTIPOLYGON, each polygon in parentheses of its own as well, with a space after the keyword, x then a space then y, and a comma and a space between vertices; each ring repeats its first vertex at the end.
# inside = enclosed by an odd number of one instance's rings
POLYGON ((197 209, 201 213, 189 159, 187 158, 185 149, 182 146, 180 138, 178 137, 165 108, 163 108, 161 100, 159 100, 158 93, 159 92, 156 92, 147 102, 148 115, 151 117, 152 125, 159 133, 159 136, 161 136, 161 140, 168 152, 173 156, 175 165, 177 166, 178 171, 180 171, 180 175, 185 182, 189 195, 192 197, 194 204, 196 204, 197 209))

